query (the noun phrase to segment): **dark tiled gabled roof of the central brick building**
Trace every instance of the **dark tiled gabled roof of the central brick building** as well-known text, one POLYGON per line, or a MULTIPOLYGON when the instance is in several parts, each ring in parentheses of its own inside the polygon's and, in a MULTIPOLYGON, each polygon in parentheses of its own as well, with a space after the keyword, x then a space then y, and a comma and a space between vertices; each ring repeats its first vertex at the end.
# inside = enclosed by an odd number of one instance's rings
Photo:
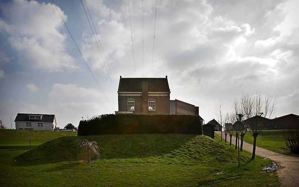
POLYGON ((142 81, 148 81, 148 92, 170 92, 166 78, 122 78, 120 76, 118 92, 142 92, 142 81))

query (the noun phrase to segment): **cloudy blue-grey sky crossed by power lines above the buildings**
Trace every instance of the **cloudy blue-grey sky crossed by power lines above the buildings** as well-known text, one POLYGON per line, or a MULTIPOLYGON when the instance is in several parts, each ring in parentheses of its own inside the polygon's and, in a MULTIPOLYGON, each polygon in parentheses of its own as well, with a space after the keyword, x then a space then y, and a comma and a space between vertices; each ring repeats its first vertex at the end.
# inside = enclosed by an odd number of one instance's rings
POLYGON ((276 97, 273 117, 299 115, 299 1, 86 0, 86 13, 54 2, 0 1, 7 127, 17 113, 55 114, 61 128, 114 113, 120 76, 167 75, 170 99, 199 106, 205 123, 242 93, 276 97))

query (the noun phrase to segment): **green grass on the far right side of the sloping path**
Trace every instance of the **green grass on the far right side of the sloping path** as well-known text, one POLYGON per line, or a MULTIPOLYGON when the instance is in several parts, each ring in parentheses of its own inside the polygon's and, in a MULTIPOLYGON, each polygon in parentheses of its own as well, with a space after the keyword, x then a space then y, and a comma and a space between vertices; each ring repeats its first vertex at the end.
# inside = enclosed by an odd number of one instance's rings
MULTIPOLYGON (((253 136, 247 132, 244 136, 244 141, 253 144, 253 136)), ((298 154, 293 154, 288 150, 280 130, 263 130, 262 133, 257 136, 257 146, 271 150, 275 153, 299 156, 298 154)))

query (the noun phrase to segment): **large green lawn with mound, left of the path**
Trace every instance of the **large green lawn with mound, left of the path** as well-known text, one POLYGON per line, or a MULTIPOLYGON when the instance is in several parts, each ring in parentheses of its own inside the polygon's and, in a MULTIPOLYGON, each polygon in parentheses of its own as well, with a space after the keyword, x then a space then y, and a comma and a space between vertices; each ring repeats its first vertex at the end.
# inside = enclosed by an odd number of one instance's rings
POLYGON ((280 186, 277 173, 260 173, 271 160, 243 152, 237 168, 219 137, 31 132, 29 146, 28 131, 0 130, 0 186, 280 186), (82 160, 82 139, 98 143, 101 160, 82 160))

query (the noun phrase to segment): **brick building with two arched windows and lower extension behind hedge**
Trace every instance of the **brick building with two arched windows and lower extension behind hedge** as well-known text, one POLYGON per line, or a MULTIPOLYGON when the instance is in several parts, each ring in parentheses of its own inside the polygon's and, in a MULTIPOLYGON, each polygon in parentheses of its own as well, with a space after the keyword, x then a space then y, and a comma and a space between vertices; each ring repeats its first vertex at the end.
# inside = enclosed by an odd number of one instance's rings
MULTIPOLYGON (((122 78, 118 85, 116 114, 187 114, 199 116, 199 107, 170 100, 170 89, 165 78, 122 78)), ((203 119, 199 116, 201 122, 203 119)))

